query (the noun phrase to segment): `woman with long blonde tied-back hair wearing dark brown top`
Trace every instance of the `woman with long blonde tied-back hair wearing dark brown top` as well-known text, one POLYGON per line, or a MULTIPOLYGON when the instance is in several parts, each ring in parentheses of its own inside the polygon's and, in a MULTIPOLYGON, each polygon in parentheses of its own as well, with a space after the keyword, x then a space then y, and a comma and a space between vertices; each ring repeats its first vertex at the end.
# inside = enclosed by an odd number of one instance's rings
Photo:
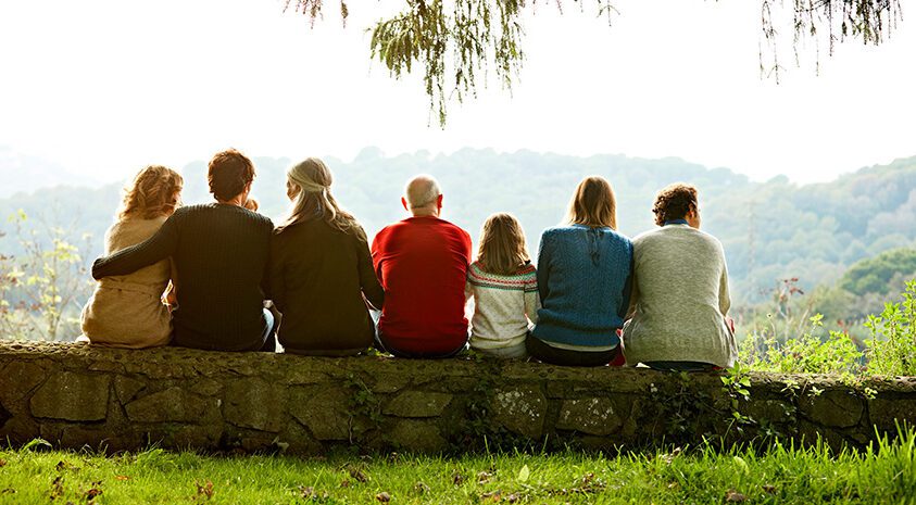
POLYGON ((384 291, 366 233, 330 192, 332 176, 317 157, 287 172, 289 216, 271 240, 271 298, 283 313, 277 337, 289 353, 355 355, 372 346, 368 306, 384 291))

